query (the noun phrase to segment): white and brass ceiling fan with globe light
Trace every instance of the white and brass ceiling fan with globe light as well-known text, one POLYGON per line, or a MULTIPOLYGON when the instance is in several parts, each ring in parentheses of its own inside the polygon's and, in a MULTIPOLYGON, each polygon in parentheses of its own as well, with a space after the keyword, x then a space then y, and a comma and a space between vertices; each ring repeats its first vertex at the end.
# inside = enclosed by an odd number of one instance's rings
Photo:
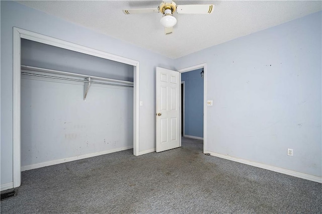
POLYGON ((126 15, 162 13, 160 23, 165 27, 165 34, 173 33, 173 26, 177 24, 177 19, 173 16, 177 14, 211 14, 214 5, 176 5, 173 1, 163 1, 157 8, 130 9, 123 10, 126 15))

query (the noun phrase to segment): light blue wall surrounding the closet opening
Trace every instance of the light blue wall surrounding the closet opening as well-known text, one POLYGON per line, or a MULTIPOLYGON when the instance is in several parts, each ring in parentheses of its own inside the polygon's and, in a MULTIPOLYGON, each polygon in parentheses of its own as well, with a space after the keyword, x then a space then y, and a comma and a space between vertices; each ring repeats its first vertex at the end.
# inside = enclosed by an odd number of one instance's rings
MULTIPOLYGON (((174 69, 174 60, 113 39, 12 1, 1 4, 1 184, 13 181, 13 27, 140 62, 140 151, 155 148, 155 67, 174 69)), ((88 73, 89 75, 94 75, 88 73)))

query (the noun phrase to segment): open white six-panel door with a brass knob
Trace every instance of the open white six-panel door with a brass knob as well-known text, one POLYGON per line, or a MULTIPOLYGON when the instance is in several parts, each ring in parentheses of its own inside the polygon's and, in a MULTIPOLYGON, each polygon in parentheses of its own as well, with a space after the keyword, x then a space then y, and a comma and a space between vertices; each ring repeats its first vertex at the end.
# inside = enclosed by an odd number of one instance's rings
POLYGON ((179 74, 156 67, 156 152, 181 146, 179 74))

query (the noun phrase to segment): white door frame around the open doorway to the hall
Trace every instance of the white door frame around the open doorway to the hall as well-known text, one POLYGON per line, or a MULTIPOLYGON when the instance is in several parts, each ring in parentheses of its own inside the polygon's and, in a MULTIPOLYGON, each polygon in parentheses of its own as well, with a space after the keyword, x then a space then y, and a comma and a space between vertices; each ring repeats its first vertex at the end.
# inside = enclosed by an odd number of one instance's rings
MULTIPOLYGON (((203 78, 204 78, 203 79, 203 152, 205 153, 206 145, 207 145, 207 64, 203 63, 199 65, 190 66, 187 68, 182 68, 182 69, 179 69, 178 72, 184 73, 188 71, 197 70, 200 68, 203 68, 203 72, 204 72, 203 73, 203 78)), ((180 75, 180 81, 181 81, 181 75, 180 75)), ((181 109, 180 109, 180 116, 181 116, 181 109)), ((180 124, 181 124, 181 121, 180 121, 180 124)))

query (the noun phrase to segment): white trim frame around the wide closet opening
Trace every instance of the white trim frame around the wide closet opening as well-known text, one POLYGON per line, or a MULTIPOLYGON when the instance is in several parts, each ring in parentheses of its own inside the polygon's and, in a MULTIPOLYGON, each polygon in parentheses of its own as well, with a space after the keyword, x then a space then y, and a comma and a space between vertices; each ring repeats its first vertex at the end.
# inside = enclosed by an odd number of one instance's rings
POLYGON ((133 87, 133 154, 139 155, 139 62, 125 57, 88 48, 82 45, 66 42, 53 37, 34 33, 14 27, 13 30, 13 187, 21 185, 21 160, 20 160, 20 87, 21 87, 21 39, 64 48, 79 53, 88 54, 128 65, 133 65, 134 87, 133 87))

